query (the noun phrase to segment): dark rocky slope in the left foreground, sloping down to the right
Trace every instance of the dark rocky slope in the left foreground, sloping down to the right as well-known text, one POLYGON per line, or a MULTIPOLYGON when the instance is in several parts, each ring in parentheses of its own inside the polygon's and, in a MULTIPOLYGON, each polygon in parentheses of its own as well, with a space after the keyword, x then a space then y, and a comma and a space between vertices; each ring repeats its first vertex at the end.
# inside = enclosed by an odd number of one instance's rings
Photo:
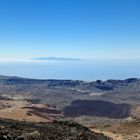
POLYGON ((0 140, 110 140, 74 122, 27 123, 0 120, 0 140))

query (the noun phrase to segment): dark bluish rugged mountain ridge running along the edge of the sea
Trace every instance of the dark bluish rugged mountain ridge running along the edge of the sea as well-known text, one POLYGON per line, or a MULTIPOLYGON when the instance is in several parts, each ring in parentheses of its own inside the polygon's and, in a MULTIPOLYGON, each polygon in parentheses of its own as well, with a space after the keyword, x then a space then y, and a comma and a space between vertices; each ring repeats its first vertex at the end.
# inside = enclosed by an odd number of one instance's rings
POLYGON ((130 78, 126 80, 107 81, 80 81, 80 80, 39 80, 20 78, 16 76, 0 76, 0 85, 43 85, 46 87, 69 88, 81 91, 140 91, 140 79, 130 78))

